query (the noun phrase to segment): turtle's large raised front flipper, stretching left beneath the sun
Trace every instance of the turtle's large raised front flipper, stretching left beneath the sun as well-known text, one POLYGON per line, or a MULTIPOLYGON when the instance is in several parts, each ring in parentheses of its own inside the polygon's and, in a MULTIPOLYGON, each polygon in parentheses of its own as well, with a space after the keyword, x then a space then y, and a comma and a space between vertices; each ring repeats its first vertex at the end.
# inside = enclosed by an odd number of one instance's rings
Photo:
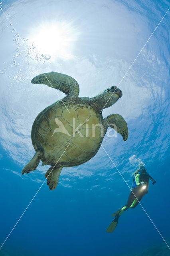
POLYGON ((31 82, 32 84, 46 84, 71 96, 71 98, 79 96, 79 84, 74 78, 65 74, 57 72, 44 73, 34 77, 31 82))

